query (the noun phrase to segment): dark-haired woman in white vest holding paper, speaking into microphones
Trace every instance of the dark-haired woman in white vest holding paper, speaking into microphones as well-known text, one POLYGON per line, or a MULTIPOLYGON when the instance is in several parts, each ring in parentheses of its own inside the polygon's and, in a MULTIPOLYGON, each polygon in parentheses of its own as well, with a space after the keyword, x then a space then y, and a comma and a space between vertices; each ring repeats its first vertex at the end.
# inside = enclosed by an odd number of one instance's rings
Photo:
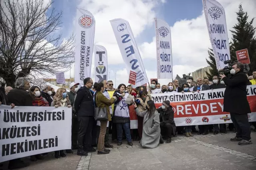
MULTIPOLYGON (((125 131, 125 136, 128 141, 128 145, 132 146, 131 142, 131 131, 130 131, 130 114, 129 107, 125 102, 129 93, 125 93, 125 84, 120 84, 118 86, 117 91, 113 94, 113 96, 117 97, 114 106, 114 115, 113 115, 113 123, 116 123, 117 127, 117 145, 120 146, 122 144, 122 134, 123 129, 125 131)), ((113 135, 113 134, 112 134, 113 135)))

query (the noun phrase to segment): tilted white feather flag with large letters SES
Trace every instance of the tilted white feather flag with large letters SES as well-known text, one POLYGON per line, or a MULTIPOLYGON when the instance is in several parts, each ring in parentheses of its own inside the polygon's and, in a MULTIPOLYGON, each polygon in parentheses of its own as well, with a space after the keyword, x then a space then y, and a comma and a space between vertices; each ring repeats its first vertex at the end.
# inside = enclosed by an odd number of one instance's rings
POLYGON ((121 51, 123 61, 126 64, 128 75, 130 74, 130 71, 137 73, 135 87, 148 83, 139 49, 136 45, 129 22, 118 18, 111 20, 110 23, 121 51))

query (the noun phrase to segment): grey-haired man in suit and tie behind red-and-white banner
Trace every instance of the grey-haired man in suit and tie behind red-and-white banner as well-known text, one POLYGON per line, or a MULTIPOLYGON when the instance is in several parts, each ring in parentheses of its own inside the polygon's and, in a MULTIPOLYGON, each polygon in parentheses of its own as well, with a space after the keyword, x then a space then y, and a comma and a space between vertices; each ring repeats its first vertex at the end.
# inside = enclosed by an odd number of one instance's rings
MULTIPOLYGON (((193 89, 194 92, 210 90, 210 86, 209 85, 203 84, 203 79, 201 77, 199 77, 196 80, 196 82, 198 83, 198 85, 194 87, 194 89, 193 89)), ((199 128, 198 134, 206 135, 206 134, 209 133, 209 126, 208 125, 198 125, 198 128, 199 128)))

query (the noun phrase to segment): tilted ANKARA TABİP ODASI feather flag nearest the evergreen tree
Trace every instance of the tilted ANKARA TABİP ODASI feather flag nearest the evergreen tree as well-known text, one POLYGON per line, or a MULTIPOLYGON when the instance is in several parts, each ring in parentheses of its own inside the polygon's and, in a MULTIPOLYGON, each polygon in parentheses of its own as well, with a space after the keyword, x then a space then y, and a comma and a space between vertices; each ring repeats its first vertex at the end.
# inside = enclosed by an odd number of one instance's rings
POLYGON ((203 0, 206 24, 212 43, 217 69, 223 69, 224 61, 230 60, 226 15, 216 0, 203 0))

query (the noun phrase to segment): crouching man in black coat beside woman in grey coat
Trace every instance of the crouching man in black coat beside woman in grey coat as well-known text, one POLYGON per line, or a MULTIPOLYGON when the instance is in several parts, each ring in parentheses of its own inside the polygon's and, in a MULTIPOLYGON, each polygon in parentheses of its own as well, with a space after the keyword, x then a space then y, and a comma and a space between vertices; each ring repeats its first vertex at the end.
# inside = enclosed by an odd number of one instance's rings
POLYGON ((167 137, 166 143, 171 142, 171 133, 175 135, 176 125, 174 122, 174 112, 172 107, 170 106, 170 101, 163 101, 162 106, 157 109, 158 113, 160 113, 160 128, 161 135, 167 137))

